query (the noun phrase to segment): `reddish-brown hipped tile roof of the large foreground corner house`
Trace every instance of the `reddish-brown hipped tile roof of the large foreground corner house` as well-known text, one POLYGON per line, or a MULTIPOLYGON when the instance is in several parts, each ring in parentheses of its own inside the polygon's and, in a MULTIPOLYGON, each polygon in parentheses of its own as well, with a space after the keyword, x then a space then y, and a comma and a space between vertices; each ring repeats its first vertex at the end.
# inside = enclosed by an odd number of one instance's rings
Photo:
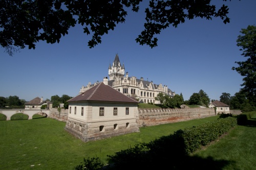
POLYGON ((120 93, 109 85, 103 82, 95 85, 87 91, 75 96, 68 102, 76 101, 104 101, 104 102, 125 102, 125 103, 138 103, 136 100, 120 93))

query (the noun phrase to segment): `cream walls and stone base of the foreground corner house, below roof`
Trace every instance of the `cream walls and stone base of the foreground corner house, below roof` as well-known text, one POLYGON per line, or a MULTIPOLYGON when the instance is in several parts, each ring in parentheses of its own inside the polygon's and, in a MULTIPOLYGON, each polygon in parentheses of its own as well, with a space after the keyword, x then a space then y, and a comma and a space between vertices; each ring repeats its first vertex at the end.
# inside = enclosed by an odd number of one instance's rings
POLYGON ((69 106, 71 113, 68 113, 65 129, 83 141, 139 132, 136 123, 138 114, 136 103, 70 103, 69 106), (74 114, 74 107, 77 114, 74 114), (80 115, 81 107, 86 110, 83 116, 80 115), (99 115, 100 107, 104 108, 104 116, 99 115), (113 114, 114 107, 117 107, 117 115, 113 114), (126 107, 129 108, 129 114, 125 114, 126 107))

